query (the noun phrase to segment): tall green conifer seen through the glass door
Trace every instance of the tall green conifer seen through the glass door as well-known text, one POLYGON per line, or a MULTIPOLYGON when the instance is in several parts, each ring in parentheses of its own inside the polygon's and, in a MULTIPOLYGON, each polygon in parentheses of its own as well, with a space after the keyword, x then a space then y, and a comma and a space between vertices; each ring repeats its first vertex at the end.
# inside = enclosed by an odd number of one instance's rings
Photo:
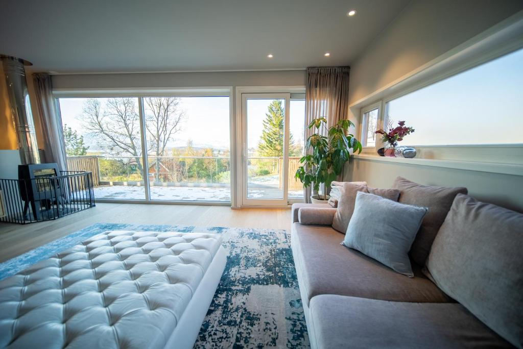
MULTIPOLYGON (((267 108, 263 121, 263 131, 258 143, 258 154, 267 157, 283 156, 283 127, 285 126, 285 111, 281 100, 275 99, 267 108)), ((296 146, 292 134, 289 134, 289 155, 292 156, 296 146)))

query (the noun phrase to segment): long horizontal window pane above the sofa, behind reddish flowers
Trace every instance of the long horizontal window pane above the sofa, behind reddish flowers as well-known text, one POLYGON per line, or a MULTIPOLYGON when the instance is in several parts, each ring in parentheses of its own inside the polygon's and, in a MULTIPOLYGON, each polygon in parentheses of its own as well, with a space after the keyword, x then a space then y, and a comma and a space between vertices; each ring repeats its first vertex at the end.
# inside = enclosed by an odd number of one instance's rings
POLYGON ((385 127, 414 127, 402 145, 523 143, 522 86, 518 50, 390 100, 385 127))

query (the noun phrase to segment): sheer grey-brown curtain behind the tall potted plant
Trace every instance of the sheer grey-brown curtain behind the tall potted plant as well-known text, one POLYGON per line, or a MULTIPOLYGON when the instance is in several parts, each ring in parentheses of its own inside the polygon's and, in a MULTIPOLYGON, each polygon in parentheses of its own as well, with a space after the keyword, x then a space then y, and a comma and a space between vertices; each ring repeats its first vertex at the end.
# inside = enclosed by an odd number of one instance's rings
MULTIPOLYGON (((305 141, 314 133, 307 128, 313 119, 324 117, 330 127, 348 117, 349 71, 349 67, 307 68, 305 141)), ((311 201, 311 194, 311 188, 304 189, 305 202, 311 201)))

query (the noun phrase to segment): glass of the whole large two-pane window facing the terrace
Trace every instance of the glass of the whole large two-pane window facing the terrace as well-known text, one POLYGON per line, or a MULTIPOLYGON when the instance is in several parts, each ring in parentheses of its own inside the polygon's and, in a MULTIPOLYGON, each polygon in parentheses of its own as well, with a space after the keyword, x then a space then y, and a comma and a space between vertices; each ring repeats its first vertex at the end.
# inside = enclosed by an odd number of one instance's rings
POLYGON ((94 173, 97 199, 231 201, 229 97, 58 104, 68 166, 94 173))

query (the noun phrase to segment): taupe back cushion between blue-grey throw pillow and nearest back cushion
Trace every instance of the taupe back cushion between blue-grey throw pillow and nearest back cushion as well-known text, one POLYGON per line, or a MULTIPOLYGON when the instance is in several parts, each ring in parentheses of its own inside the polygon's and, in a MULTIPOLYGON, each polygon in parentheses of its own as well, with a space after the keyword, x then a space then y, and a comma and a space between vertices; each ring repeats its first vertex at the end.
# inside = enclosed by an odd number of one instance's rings
POLYGON ((419 265, 425 265, 430 246, 443 224, 452 201, 457 194, 467 194, 467 188, 445 188, 421 185, 403 177, 397 177, 392 188, 401 191, 399 202, 403 204, 428 207, 416 239, 412 243, 411 257, 419 265))

